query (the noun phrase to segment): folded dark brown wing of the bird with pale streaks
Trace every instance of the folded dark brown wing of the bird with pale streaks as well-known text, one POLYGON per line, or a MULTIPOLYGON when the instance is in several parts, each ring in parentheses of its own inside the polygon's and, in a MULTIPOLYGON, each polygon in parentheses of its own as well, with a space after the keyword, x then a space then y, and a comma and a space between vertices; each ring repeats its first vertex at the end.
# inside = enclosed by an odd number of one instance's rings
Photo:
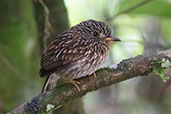
POLYGON ((56 69, 81 59, 84 49, 80 39, 80 36, 67 32, 48 45, 41 58, 40 76, 51 74, 56 69))

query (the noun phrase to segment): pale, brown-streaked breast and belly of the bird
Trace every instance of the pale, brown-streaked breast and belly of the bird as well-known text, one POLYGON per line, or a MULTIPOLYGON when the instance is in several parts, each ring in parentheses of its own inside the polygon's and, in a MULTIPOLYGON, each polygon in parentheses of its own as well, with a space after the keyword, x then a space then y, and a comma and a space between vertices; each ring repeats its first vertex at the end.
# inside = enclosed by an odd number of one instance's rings
POLYGON ((75 51, 80 54, 80 59, 72 62, 67 67, 65 67, 65 69, 60 71, 63 77, 76 79, 86 75, 91 75, 105 61, 109 50, 108 46, 105 44, 90 44, 83 47, 80 46, 79 48, 75 49, 77 49, 75 51))

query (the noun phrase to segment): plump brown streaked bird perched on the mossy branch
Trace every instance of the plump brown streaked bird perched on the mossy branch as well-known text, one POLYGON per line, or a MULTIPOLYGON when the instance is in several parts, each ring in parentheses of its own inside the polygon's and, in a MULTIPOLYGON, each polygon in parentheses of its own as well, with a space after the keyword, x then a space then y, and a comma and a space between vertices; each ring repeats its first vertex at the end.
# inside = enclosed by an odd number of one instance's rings
POLYGON ((73 83, 80 91, 79 82, 74 80, 93 74, 116 41, 121 40, 112 36, 109 25, 92 19, 57 35, 41 57, 40 77, 47 77, 42 93, 56 87, 60 79, 73 83))

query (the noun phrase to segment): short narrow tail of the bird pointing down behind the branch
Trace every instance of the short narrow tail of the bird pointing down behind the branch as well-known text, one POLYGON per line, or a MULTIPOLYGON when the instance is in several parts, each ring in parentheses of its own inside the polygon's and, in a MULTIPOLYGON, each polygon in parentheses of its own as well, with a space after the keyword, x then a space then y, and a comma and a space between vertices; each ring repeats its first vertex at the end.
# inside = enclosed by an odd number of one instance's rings
POLYGON ((54 87, 57 86, 57 81, 59 79, 59 76, 57 76, 55 73, 52 75, 49 75, 44 83, 44 86, 42 88, 41 93, 47 92, 52 90, 54 87))

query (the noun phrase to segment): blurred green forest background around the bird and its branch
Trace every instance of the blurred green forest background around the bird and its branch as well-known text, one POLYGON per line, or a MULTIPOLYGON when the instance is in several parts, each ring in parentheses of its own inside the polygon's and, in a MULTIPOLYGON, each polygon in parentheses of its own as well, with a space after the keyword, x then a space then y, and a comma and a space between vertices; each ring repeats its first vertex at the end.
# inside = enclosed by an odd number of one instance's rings
MULTIPOLYGON (((171 0, 44 2, 50 11, 48 42, 88 19, 112 27, 122 43, 112 46, 103 66, 171 48, 171 0)), ((45 79, 38 72, 44 24, 44 9, 39 0, 0 1, 0 114, 41 91, 45 79)), ((171 76, 171 70, 167 75, 171 76)), ((72 111, 64 106, 58 114, 171 114, 171 80, 163 83, 159 76, 150 74, 88 93, 73 104, 67 104, 72 111)))

